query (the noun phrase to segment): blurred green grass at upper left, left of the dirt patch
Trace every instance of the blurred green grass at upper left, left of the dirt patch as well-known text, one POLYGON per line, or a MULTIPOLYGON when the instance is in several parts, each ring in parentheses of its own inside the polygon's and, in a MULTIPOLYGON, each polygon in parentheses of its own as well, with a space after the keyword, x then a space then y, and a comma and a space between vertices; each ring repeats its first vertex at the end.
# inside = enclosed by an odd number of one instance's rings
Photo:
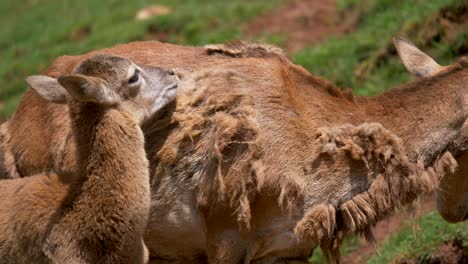
MULTIPOLYGON (((203 45, 243 39, 252 18, 286 0, 3 0, 0 1, 0 118, 10 115, 25 91, 24 78, 37 74, 59 55, 81 54, 117 43, 148 39, 152 28, 166 41, 203 45), (168 15, 135 21, 151 4, 172 9, 168 15), (83 38, 77 32, 89 30, 83 38)), ((264 40, 279 43, 278 36, 264 40)))

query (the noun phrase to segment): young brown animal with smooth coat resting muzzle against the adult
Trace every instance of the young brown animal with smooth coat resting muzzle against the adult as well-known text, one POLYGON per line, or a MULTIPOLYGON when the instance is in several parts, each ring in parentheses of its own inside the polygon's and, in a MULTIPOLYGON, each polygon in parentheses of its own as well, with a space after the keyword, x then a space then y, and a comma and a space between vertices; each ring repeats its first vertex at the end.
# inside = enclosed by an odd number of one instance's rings
POLYGON ((139 124, 172 101, 178 78, 102 54, 58 79, 26 81, 68 102, 77 171, 0 181, 0 262, 146 262, 150 185, 139 124))

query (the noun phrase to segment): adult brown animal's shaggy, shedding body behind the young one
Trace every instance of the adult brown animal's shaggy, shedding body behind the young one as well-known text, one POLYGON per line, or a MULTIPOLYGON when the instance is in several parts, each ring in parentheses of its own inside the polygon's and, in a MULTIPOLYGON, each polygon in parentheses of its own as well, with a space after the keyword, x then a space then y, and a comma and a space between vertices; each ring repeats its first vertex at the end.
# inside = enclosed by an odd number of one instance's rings
MULTIPOLYGON (((344 235, 369 235, 433 190, 456 167, 454 142, 466 142, 464 60, 369 99, 270 46, 139 42, 103 51, 194 71, 165 117, 144 126, 153 177, 145 242, 155 263, 306 263, 317 245, 336 257, 344 235)), ((92 54, 61 57, 47 74, 92 54)), ((64 112, 26 93, 3 126, 10 175, 73 167, 64 112), (51 162, 57 156, 64 162, 51 162)))

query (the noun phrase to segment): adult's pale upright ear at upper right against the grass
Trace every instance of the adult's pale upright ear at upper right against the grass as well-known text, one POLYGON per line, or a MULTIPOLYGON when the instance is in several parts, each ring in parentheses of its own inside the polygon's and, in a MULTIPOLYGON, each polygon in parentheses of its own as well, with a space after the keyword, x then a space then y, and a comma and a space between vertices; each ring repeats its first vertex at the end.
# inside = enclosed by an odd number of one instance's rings
POLYGON ((406 69, 416 77, 434 76, 445 69, 403 37, 393 38, 393 44, 406 69))

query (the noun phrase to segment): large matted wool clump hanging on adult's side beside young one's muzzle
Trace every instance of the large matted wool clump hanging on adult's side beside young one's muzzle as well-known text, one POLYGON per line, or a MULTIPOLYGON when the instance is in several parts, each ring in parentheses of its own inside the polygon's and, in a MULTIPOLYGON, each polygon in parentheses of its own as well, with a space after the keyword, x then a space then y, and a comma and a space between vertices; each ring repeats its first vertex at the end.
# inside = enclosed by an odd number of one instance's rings
POLYGON ((158 178, 180 172, 192 179, 202 210, 231 206, 243 228, 250 227, 250 203, 263 174, 248 86, 247 77, 229 70, 187 76, 153 173, 158 178))

